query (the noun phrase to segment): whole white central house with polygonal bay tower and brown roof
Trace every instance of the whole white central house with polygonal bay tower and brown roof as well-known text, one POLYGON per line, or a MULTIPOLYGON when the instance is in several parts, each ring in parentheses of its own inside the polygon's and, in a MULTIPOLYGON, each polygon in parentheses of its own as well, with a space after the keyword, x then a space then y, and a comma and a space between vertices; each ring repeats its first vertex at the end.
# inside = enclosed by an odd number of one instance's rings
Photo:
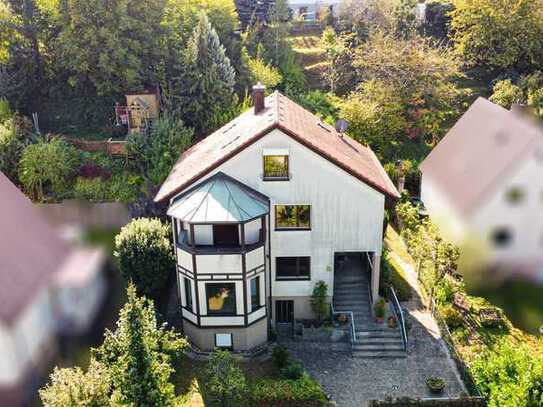
POLYGON ((185 151, 155 197, 169 200, 183 329, 203 350, 249 350, 268 326, 313 318, 320 280, 334 306, 360 305, 360 329, 378 297, 385 202, 398 192, 368 147, 264 91, 185 151))

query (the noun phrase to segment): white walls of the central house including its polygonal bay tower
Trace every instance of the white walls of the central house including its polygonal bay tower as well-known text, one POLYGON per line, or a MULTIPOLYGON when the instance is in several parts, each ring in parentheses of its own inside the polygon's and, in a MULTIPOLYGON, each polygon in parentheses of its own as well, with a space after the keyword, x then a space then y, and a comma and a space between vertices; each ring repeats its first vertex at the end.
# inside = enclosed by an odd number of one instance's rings
POLYGON ((183 202, 177 197, 190 196, 199 185, 208 180, 216 182, 215 177, 221 174, 266 197, 269 212, 238 225, 235 234, 245 244, 241 253, 227 249, 213 252, 214 224, 191 223, 173 216, 182 315, 191 324, 189 330, 197 345, 213 342, 206 336, 215 332, 213 327, 216 332, 225 327, 249 330, 265 317, 273 320, 275 299, 293 300, 294 317, 311 318, 309 297, 315 284, 324 281, 332 296, 337 253, 370 256, 374 263, 371 289, 377 298, 385 213, 382 192, 274 129, 180 191, 171 200, 172 213, 175 203, 183 202), (269 155, 288 156, 288 180, 264 179, 263 159, 269 155), (277 229, 276 205, 309 205, 310 227, 277 229), (309 258, 309 277, 278 279, 278 257, 309 258), (235 287, 235 313, 209 313, 206 287, 214 283, 235 287), (257 285, 258 304, 253 304, 257 285))

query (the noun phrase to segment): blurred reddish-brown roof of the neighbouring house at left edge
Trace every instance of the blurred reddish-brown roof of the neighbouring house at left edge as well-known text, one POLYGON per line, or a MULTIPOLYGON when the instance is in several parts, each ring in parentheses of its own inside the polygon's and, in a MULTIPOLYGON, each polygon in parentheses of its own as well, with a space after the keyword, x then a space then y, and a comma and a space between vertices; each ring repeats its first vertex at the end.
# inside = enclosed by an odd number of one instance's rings
POLYGON ((68 245, 0 172, 0 320, 15 320, 69 255, 68 245))

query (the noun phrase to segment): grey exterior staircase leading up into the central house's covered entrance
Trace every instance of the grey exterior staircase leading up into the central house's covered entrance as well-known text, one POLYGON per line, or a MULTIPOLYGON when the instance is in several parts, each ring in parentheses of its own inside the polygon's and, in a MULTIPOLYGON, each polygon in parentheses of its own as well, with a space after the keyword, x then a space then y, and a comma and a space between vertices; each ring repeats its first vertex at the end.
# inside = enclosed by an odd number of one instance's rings
POLYGON ((333 304, 336 312, 353 313, 356 338, 353 356, 357 358, 404 358, 406 353, 400 329, 378 324, 371 315, 370 284, 359 260, 347 257, 336 269, 333 304))

